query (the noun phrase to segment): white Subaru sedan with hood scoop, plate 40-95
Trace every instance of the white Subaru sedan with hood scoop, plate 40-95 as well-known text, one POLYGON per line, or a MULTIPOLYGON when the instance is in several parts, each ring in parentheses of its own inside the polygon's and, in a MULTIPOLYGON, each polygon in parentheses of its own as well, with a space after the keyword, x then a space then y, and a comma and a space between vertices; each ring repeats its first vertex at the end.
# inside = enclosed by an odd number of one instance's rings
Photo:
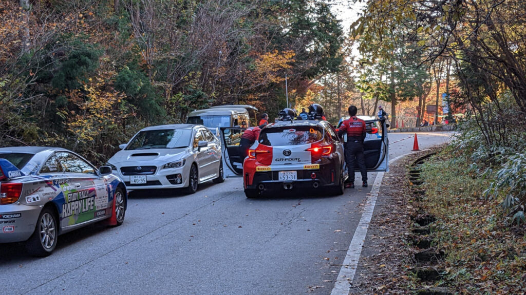
POLYGON ((203 125, 175 124, 144 128, 108 161, 130 191, 186 188, 225 181, 219 140, 203 125))

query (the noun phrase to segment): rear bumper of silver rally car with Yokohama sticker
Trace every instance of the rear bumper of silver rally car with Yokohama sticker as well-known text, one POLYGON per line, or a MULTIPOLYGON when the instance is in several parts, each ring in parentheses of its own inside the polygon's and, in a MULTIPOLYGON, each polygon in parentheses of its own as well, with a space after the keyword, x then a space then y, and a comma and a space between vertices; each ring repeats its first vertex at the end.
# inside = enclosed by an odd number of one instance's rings
POLYGON ((0 207, 0 243, 25 241, 35 231, 40 206, 2 205, 0 207), (5 218, 11 216, 14 218, 5 218), (17 217, 19 216, 19 217, 17 217))

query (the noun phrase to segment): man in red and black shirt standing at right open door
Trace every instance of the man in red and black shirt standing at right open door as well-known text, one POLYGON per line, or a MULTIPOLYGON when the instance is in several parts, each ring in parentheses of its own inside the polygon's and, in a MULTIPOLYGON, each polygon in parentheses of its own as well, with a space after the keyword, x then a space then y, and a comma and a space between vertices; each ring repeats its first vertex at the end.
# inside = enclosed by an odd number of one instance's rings
POLYGON ((347 183, 345 187, 355 187, 355 159, 360 168, 362 186, 367 187, 367 169, 365 166, 365 156, 363 155, 363 140, 365 140, 367 134, 366 124, 365 121, 356 117, 358 109, 355 106, 350 106, 348 111, 350 118, 343 121, 338 130, 338 136, 340 136, 340 138, 343 134, 347 133, 345 160, 349 172, 349 183, 347 183))

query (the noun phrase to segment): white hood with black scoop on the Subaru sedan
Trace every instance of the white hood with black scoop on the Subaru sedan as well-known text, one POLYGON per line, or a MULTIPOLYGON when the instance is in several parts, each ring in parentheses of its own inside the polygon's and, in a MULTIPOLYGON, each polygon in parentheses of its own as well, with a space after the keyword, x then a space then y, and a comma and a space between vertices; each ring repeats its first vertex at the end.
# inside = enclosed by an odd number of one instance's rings
POLYGON ((189 152, 183 149, 150 149, 150 150, 122 150, 118 151, 108 162, 113 165, 130 162, 149 162, 151 164, 164 164, 182 159, 189 152))

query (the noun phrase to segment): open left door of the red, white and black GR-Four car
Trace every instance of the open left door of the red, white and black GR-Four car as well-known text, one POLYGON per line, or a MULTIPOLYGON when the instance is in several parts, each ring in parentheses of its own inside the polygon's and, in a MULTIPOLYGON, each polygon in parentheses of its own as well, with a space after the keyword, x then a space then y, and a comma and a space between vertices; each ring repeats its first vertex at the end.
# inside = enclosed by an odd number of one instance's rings
POLYGON ((243 174, 243 161, 239 155, 239 142, 245 129, 239 127, 221 127, 221 153, 225 177, 241 176, 243 174))

